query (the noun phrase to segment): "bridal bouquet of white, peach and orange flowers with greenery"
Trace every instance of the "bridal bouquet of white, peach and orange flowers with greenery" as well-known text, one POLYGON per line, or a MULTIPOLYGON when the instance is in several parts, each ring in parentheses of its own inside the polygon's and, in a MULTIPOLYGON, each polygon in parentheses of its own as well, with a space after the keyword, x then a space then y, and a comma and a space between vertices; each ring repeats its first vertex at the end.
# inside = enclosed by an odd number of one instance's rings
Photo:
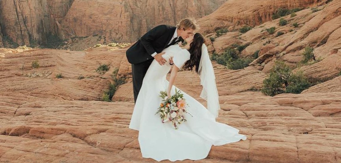
MULTIPOLYGON (((159 95, 163 100, 161 101, 158 111, 155 113, 160 114, 162 123, 172 122, 175 129, 178 126, 186 122, 185 113, 191 115, 186 111, 186 100, 183 98, 183 94, 180 90, 175 89, 175 95, 168 98, 166 91, 161 91, 159 95)), ((192 115, 191 115, 192 116, 192 115)))

